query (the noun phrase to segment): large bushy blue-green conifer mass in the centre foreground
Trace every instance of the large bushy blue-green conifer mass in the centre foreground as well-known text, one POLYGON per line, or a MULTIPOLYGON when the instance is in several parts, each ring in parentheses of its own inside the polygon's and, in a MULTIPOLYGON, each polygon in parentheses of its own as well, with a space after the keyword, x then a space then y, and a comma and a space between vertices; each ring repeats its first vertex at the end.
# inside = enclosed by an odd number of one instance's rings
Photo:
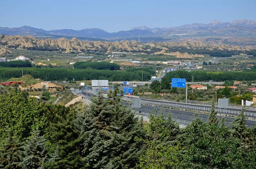
POLYGON ((103 99, 100 93, 93 98, 90 108, 78 114, 75 126, 84 143, 83 156, 90 168, 132 168, 138 161, 141 146, 134 141, 143 133, 143 126, 134 113, 112 99, 103 99))

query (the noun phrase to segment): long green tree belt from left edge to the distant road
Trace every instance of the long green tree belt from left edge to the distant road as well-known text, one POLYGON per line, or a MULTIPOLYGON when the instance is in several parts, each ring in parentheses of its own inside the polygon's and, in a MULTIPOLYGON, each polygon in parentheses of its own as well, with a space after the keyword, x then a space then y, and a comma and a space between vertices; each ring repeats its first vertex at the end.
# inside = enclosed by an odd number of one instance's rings
POLYGON ((151 73, 145 70, 134 72, 113 71, 113 70, 82 70, 82 69, 64 69, 64 68, 0 68, 0 80, 8 80, 13 77, 21 77, 23 74, 31 75, 35 79, 45 81, 62 80, 110 80, 110 81, 142 81, 150 80, 151 73), (143 74, 143 77, 142 77, 143 74))

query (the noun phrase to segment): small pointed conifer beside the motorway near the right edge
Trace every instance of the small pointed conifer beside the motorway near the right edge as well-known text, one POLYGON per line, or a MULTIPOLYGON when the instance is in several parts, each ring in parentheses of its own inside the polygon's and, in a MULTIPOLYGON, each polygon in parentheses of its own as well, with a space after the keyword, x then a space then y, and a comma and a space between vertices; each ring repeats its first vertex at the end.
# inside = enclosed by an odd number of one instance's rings
POLYGON ((230 124, 232 127, 233 135, 239 139, 247 140, 250 137, 250 131, 245 125, 246 116, 244 115, 246 108, 242 108, 241 113, 236 116, 235 120, 230 124))

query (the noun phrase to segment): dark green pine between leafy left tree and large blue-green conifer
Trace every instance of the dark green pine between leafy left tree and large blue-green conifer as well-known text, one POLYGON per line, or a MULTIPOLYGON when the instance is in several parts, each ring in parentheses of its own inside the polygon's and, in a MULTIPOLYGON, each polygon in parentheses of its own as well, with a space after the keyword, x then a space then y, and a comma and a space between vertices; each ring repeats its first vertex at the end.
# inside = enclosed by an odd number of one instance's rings
POLYGON ((50 169, 83 169, 86 163, 82 159, 82 142, 79 131, 75 130, 75 111, 68 107, 46 105, 49 126, 44 130, 45 137, 51 144, 49 152, 52 157, 45 164, 50 169), (56 149, 58 151, 56 152, 56 149), (55 157, 53 157, 55 155, 55 157), (57 156, 58 155, 58 156, 57 156))

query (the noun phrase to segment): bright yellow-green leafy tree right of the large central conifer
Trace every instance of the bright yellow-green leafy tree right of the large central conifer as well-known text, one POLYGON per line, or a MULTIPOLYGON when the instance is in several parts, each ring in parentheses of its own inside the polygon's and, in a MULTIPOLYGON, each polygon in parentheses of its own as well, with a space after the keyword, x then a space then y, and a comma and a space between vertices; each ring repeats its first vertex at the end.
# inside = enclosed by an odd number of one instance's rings
POLYGON ((174 145, 171 141, 175 140, 179 132, 180 129, 172 120, 171 114, 167 119, 163 114, 160 116, 151 114, 149 123, 145 126, 146 139, 136 138, 144 147, 144 154, 140 156, 137 167, 140 169, 178 168, 181 156, 180 144, 174 145))

